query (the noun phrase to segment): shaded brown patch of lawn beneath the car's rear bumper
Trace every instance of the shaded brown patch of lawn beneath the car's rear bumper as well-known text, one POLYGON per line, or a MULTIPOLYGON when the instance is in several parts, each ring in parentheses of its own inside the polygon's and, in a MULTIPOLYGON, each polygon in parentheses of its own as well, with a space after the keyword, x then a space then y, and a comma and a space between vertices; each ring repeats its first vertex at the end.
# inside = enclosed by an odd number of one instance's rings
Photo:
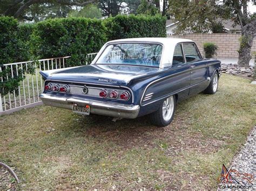
POLYGON ((152 140, 165 131, 151 124, 148 116, 136 119, 121 119, 112 122, 112 117, 106 116, 86 116, 82 117, 81 124, 76 130, 83 131, 84 135, 93 138, 102 139, 103 141, 111 141, 120 147, 133 147, 152 145, 152 140))

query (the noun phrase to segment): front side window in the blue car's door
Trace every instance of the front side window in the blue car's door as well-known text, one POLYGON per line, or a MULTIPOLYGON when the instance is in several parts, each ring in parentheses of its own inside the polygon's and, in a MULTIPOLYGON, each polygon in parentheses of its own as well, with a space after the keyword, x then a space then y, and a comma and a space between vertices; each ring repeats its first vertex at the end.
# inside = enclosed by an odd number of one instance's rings
POLYGON ((194 46, 192 43, 184 43, 183 44, 183 49, 186 57, 186 61, 189 62, 194 62, 197 60, 201 60, 201 56, 198 52, 198 49, 194 46))

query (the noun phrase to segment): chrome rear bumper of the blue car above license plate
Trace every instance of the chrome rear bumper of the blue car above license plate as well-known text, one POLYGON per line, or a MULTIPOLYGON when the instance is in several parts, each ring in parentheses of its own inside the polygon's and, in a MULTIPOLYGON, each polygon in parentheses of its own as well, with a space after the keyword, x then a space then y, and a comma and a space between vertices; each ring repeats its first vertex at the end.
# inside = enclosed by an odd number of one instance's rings
POLYGON ((139 114, 139 105, 126 105, 120 103, 108 103, 79 97, 60 97, 51 94, 39 96, 45 105, 72 110, 73 103, 90 105, 90 113, 121 118, 136 118, 139 114))

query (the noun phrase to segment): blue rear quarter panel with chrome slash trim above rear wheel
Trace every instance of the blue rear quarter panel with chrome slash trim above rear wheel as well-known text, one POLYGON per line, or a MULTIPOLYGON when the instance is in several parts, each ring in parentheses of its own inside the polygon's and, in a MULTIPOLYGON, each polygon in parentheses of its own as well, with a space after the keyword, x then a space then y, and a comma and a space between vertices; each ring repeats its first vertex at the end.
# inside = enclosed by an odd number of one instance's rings
POLYGON ((177 94, 180 100, 186 98, 190 86, 189 68, 188 65, 165 68, 147 79, 133 81, 134 104, 140 105, 139 115, 156 111, 161 101, 172 94, 177 94))

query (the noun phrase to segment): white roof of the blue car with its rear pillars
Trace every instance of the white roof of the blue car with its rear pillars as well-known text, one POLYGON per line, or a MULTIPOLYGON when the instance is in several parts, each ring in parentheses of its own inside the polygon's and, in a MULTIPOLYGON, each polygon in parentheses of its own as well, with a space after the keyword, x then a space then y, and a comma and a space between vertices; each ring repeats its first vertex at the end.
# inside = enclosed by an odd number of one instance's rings
POLYGON ((157 43, 163 45, 163 54, 161 56, 160 68, 168 67, 172 65, 174 48, 178 43, 192 42, 189 39, 181 38, 129 38, 129 39, 118 39, 108 41, 99 51, 95 59, 93 59, 91 64, 95 64, 99 56, 102 54, 107 45, 116 43, 157 43))

